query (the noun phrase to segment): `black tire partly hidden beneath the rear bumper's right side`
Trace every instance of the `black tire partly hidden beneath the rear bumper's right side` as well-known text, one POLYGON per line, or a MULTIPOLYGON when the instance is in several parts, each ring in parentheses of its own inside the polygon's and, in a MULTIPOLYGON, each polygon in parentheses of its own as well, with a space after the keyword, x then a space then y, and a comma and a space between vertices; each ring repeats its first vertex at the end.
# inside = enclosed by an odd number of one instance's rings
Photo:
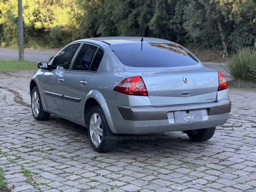
POLYGON ((186 131, 188 137, 193 141, 205 141, 212 138, 216 127, 186 131))

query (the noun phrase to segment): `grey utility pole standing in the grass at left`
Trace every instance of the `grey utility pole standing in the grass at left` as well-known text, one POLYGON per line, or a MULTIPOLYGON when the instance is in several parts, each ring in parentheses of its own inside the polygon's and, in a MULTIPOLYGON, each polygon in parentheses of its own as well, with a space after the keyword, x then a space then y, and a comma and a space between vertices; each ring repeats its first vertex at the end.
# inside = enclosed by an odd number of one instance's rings
POLYGON ((24 61, 22 0, 18 0, 18 39, 19 39, 19 60, 24 61))

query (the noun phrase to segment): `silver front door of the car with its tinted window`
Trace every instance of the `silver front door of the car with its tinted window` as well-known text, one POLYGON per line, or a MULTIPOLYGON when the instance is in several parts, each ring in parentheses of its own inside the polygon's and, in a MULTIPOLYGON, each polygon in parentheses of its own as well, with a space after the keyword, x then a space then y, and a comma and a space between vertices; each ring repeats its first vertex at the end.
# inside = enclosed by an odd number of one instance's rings
POLYGON ((81 43, 68 45, 55 56, 52 67, 45 71, 42 80, 45 108, 65 113, 63 107, 63 82, 68 75, 69 67, 81 43))

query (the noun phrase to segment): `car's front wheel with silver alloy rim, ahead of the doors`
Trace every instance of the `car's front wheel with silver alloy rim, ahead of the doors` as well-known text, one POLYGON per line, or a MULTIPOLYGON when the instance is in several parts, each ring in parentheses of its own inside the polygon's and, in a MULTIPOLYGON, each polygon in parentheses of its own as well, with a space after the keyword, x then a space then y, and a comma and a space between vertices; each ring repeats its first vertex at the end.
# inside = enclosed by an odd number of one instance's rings
POLYGON ((49 119, 50 113, 44 111, 38 87, 35 86, 31 92, 31 109, 33 116, 38 121, 49 119))

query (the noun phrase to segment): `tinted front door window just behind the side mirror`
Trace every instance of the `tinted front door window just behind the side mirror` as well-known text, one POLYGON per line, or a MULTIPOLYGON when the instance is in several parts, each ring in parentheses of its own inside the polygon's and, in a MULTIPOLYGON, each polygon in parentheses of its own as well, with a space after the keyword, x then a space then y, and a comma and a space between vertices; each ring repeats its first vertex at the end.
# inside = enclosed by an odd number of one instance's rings
POLYGON ((52 69, 68 69, 80 43, 72 44, 63 49, 54 59, 52 69))

